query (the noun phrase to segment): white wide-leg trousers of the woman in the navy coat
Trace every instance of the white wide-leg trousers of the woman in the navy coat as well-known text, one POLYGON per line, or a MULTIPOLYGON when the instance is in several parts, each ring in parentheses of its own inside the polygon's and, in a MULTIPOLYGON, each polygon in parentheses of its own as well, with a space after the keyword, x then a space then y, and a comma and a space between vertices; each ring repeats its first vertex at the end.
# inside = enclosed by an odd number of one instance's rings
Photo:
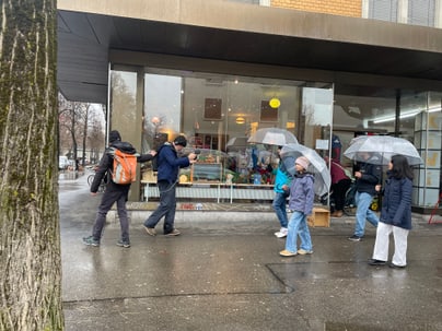
POLYGON ((409 229, 385 224, 383 222, 377 224, 373 259, 388 261, 388 241, 392 233, 395 241, 395 251, 392 262, 396 265, 405 267, 407 265, 407 237, 409 229))

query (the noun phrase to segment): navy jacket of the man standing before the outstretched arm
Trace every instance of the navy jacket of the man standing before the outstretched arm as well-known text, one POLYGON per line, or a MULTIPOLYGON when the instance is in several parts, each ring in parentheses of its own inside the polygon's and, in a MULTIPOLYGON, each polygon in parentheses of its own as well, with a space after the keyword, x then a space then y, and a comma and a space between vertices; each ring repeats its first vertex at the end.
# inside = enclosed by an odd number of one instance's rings
POLYGON ((179 168, 188 167, 188 157, 178 157, 172 143, 164 143, 158 152, 158 180, 175 182, 178 179, 179 168))

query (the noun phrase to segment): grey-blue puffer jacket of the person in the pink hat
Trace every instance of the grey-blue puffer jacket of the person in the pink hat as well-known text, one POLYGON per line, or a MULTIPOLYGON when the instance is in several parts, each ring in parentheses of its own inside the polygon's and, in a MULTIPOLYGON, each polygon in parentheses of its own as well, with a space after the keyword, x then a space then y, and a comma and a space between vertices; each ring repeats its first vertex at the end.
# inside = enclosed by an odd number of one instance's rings
POLYGON ((290 186, 289 209, 311 215, 315 192, 313 184, 315 178, 312 174, 296 174, 290 186))

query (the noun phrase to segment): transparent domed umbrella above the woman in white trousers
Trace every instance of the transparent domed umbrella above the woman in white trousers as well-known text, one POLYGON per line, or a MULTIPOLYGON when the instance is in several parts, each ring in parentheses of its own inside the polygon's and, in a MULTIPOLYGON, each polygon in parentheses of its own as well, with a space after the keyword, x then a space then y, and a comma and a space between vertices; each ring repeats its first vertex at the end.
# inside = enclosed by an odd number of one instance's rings
POLYGON ((344 156, 358 162, 386 165, 393 155, 404 155, 410 165, 422 163, 416 147, 406 139, 391 135, 361 135, 350 142, 344 156), (369 159, 364 154, 371 154, 369 159))

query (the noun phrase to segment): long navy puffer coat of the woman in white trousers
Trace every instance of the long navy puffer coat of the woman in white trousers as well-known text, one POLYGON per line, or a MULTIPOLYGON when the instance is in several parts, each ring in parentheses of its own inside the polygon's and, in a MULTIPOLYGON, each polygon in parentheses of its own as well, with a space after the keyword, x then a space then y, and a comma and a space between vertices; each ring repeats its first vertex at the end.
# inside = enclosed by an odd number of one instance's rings
POLYGON ((385 181, 380 221, 402 228, 411 228, 412 182, 408 178, 388 176, 385 181))

